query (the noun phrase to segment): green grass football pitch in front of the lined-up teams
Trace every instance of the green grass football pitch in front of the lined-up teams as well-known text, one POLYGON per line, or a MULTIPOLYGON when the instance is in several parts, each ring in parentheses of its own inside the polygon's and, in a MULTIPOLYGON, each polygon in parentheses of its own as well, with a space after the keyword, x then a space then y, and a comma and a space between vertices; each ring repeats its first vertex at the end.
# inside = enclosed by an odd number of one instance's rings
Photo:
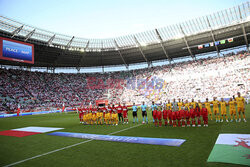
MULTIPOLYGON (((149 120, 152 120, 149 113, 149 120)), ((248 122, 216 123, 209 120, 209 127, 154 127, 153 123, 141 124, 140 112, 138 116, 139 124, 131 123, 130 111, 130 123, 118 126, 82 125, 76 113, 1 118, 0 131, 28 126, 58 127, 64 128, 59 130, 62 132, 176 138, 186 142, 173 147, 98 140, 84 142, 87 140, 48 133, 20 138, 0 136, 0 166, 239 166, 207 163, 207 158, 220 133, 250 134, 250 105, 246 106, 248 122)))

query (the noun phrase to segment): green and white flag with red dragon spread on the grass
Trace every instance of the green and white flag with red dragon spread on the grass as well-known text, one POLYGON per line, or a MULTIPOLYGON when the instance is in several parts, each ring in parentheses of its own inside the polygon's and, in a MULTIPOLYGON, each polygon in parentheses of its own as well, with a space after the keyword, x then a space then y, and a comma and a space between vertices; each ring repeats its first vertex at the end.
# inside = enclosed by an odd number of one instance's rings
POLYGON ((250 134, 220 134, 207 162, 250 165, 250 134))

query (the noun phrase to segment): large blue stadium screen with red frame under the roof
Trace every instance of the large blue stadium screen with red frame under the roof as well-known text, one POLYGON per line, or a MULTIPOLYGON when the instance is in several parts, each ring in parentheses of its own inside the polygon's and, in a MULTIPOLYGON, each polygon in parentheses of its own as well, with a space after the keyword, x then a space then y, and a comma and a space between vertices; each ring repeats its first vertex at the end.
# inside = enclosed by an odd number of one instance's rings
POLYGON ((0 37, 0 59, 34 64, 34 45, 0 37))

